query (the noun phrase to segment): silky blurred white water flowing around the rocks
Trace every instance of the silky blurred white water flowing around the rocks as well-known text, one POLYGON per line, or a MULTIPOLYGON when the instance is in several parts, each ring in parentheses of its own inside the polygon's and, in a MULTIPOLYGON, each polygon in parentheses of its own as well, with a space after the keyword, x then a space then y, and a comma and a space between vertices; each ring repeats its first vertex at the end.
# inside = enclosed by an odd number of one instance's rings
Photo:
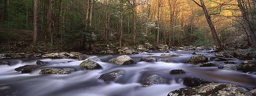
MULTIPOLYGON (((108 60, 118 55, 95 55, 101 61, 97 61, 102 66, 100 70, 85 70, 79 67, 82 61, 74 59, 19 59, 10 60, 12 65, 0 66, 0 90, 10 88, 10 93, 17 92, 21 96, 166 96, 168 92, 184 88, 182 78, 193 76, 214 83, 235 83, 245 88, 256 87, 256 76, 244 74, 235 70, 220 70, 217 67, 193 67, 184 63, 190 58, 193 51, 174 51, 181 56, 164 57, 161 52, 141 52, 140 54, 129 55, 137 63, 135 65, 114 65, 108 60), (153 56, 157 59, 167 58, 169 63, 144 62, 140 61, 143 56, 153 56), (37 60, 47 61, 50 65, 45 67, 73 67, 76 72, 65 75, 40 75, 39 69, 31 74, 20 74, 14 69, 24 65, 35 65, 37 60), (186 74, 170 75, 170 70, 182 69, 186 74), (124 76, 118 77, 115 81, 104 82, 99 80, 101 74, 114 70, 124 70, 124 76), (139 80, 143 74, 159 74, 167 77, 170 84, 153 84, 143 87, 139 80)), ((214 56, 214 53, 199 51, 207 57, 214 56)), ((95 57, 92 56, 92 57, 95 57)), ((236 62, 242 60, 229 58, 229 61, 236 62)), ((223 61, 210 61, 217 65, 223 61)), ((0 93, 1 94, 1 93, 0 93)))

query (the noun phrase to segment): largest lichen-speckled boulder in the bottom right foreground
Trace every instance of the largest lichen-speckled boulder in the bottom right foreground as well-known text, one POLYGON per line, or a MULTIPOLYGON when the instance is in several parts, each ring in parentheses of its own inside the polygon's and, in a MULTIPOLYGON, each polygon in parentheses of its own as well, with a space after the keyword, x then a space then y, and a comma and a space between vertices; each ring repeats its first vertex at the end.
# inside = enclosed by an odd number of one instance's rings
POLYGON ((180 88, 168 93, 168 96, 178 95, 227 95, 227 96, 253 96, 252 92, 249 92, 245 88, 237 86, 236 84, 225 83, 209 83, 202 84, 200 86, 180 88))

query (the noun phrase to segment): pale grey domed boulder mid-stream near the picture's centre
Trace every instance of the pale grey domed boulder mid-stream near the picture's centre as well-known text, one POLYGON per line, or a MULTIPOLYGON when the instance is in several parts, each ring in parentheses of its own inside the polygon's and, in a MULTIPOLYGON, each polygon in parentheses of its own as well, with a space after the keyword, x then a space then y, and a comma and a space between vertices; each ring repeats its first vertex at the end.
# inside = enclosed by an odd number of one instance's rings
POLYGON ((135 64, 136 62, 132 60, 127 55, 118 56, 117 58, 112 58, 109 60, 110 63, 115 63, 117 65, 129 65, 129 64, 135 64))

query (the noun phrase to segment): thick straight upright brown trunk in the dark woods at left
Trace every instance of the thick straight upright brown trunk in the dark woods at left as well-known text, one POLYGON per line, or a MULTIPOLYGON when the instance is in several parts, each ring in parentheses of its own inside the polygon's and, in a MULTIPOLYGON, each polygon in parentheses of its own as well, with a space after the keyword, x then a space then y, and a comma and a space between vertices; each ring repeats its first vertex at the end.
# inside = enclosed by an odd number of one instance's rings
POLYGON ((37 43, 38 35, 38 0, 34 0, 34 10, 33 10, 33 44, 37 43))

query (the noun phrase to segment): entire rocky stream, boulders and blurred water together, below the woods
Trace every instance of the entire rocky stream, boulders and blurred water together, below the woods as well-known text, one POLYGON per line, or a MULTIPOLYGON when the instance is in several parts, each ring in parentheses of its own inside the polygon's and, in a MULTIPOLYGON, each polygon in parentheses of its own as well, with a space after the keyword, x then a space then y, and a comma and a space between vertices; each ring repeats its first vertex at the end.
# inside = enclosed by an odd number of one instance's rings
POLYGON ((0 95, 255 95, 256 61, 219 57, 200 47, 161 48, 140 52, 146 49, 138 47, 138 54, 123 50, 122 54, 55 52, 17 59, 2 55, 0 95))

